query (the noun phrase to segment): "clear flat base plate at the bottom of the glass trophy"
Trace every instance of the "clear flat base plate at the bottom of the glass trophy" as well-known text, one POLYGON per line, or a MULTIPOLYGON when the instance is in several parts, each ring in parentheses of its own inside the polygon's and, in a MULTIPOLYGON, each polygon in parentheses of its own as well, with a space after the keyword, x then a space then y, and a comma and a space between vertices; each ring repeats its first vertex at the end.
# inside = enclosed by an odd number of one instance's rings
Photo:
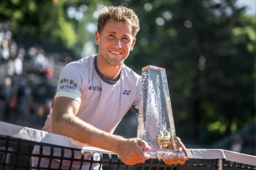
POLYGON ((159 158, 159 159, 186 156, 183 151, 177 152, 177 150, 169 150, 169 149, 151 149, 144 152, 149 154, 150 158, 159 158))

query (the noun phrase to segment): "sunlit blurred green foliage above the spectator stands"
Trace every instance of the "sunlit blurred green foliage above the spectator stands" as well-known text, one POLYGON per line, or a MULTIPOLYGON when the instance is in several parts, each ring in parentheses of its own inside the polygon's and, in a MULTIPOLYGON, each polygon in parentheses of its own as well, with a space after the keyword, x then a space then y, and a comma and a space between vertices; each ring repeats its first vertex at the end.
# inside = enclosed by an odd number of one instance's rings
POLYGON ((66 19, 66 0, 2 0, 0 20, 8 22, 12 31, 48 37, 72 48, 76 42, 73 24, 66 19))

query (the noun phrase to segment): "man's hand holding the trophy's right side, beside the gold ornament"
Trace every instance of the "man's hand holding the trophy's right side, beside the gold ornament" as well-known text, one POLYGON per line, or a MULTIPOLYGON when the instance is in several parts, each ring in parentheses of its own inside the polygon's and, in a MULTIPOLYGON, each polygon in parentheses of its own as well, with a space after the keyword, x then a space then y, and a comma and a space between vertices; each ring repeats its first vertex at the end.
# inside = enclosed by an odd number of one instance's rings
POLYGON ((187 161, 187 160, 189 159, 189 154, 188 154, 188 152, 187 152, 186 147, 185 147, 184 144, 181 142, 181 139, 180 139, 179 137, 176 137, 176 138, 177 138, 177 148, 178 148, 178 152, 183 151, 186 156, 184 156, 184 157, 179 156, 179 157, 177 157, 177 158, 165 158, 165 159, 163 159, 163 161, 165 162, 165 164, 170 164, 170 165, 172 165, 172 164, 176 165, 176 164, 178 164, 178 163, 179 163, 179 164, 184 164, 185 161, 187 161))

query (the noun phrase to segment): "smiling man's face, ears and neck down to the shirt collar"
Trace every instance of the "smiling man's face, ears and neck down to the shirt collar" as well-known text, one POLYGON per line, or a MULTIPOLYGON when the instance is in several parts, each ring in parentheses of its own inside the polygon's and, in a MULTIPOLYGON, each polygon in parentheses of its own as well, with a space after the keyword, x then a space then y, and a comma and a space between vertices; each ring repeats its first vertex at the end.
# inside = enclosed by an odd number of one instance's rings
POLYGON ((97 66, 105 78, 117 81, 124 60, 128 57, 136 42, 132 26, 110 18, 99 26, 95 33, 95 43, 99 45, 97 66))

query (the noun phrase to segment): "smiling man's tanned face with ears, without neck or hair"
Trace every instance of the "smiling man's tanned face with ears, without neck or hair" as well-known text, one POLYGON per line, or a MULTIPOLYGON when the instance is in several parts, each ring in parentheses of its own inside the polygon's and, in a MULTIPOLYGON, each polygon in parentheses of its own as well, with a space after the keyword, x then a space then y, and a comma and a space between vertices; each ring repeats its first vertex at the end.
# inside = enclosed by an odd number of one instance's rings
POLYGON ((107 21, 101 33, 95 33, 95 43, 99 45, 98 57, 103 57, 112 66, 123 64, 135 42, 131 26, 113 19, 107 21))

